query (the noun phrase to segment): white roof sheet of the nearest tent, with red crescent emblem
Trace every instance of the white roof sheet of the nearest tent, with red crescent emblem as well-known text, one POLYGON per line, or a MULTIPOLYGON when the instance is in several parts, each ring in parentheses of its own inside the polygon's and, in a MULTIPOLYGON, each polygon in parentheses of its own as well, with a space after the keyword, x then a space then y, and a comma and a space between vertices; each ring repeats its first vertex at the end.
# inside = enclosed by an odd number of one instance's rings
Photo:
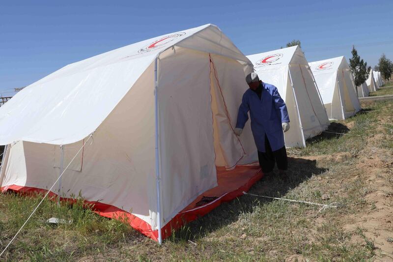
POLYGON ((251 64, 211 24, 87 58, 29 85, 1 106, 0 145, 19 140, 65 145, 82 140, 104 121, 154 59, 172 46, 251 64))

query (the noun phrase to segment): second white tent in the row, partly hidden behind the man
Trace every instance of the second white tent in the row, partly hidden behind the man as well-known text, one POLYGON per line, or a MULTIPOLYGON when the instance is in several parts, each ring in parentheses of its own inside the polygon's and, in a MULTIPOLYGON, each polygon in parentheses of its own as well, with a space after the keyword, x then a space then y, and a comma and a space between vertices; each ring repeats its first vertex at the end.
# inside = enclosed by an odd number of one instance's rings
POLYGON ((259 79, 276 86, 288 108, 291 128, 285 146, 305 147, 305 140, 326 130, 329 119, 309 64, 299 46, 247 56, 259 79))

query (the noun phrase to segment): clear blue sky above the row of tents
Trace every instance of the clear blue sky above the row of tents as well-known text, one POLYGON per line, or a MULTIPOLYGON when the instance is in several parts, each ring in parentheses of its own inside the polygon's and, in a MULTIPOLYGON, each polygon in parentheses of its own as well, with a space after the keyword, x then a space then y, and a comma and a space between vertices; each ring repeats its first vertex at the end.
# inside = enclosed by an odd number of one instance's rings
POLYGON ((245 55, 302 42, 309 61, 393 60, 392 0, 1 1, 0 95, 147 38, 215 24, 245 55))

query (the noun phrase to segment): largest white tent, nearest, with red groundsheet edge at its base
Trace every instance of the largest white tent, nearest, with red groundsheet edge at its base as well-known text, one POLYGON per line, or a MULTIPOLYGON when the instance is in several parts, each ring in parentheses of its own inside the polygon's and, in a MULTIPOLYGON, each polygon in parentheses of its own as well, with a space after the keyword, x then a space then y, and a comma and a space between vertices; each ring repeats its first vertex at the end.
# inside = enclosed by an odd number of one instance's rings
MULTIPOLYGON (((217 186, 220 167, 257 160, 250 123, 241 138, 233 132, 252 70, 214 25, 69 64, 0 108, 0 145, 8 145, 0 187, 48 189, 75 157, 53 192, 81 192, 106 208, 102 215, 125 212, 133 227, 160 240, 162 228, 168 236, 169 222, 217 186)), ((221 190, 214 204, 242 194, 221 190)), ((195 219, 199 208, 182 214, 195 219)))

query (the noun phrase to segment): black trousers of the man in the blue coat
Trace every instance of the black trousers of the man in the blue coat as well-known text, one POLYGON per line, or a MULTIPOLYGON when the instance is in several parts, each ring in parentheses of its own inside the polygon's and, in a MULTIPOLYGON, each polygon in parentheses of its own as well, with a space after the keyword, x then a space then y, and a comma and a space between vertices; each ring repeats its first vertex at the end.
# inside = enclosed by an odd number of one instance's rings
POLYGON ((272 151, 269 140, 265 134, 265 153, 258 151, 259 165, 261 166, 263 173, 269 173, 273 171, 274 165, 277 162, 277 167, 280 170, 288 169, 288 158, 286 157, 285 146, 282 146, 279 150, 272 151))

